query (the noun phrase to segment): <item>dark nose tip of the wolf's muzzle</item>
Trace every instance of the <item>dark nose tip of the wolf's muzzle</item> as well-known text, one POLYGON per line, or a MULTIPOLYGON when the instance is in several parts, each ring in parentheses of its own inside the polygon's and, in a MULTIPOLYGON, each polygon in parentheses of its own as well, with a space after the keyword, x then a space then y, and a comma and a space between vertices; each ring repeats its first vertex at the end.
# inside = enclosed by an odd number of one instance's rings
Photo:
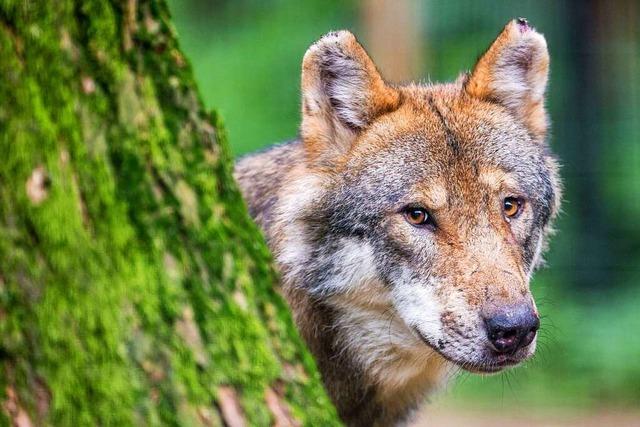
POLYGON ((499 353, 514 353, 531 344, 540 327, 540 318, 528 305, 503 310, 485 319, 487 334, 499 353))

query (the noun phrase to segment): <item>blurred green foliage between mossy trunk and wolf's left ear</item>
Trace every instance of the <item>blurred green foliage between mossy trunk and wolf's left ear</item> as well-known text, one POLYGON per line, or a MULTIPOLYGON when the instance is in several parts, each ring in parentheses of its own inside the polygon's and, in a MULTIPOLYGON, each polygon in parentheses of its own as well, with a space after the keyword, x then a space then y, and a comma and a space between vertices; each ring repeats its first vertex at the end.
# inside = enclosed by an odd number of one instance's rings
POLYGON ((171 5, 205 101, 225 117, 236 154, 295 137, 302 54, 356 14, 355 2, 338 0, 171 5))

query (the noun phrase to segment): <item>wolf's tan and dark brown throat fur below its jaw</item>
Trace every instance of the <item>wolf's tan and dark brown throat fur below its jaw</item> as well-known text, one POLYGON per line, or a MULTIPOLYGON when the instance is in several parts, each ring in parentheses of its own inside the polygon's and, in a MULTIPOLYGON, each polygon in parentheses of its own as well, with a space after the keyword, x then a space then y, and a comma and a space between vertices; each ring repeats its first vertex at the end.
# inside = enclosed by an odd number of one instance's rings
POLYGON ((285 293, 348 425, 400 424, 452 371, 382 306, 360 306, 347 295, 318 300, 293 286, 285 293))

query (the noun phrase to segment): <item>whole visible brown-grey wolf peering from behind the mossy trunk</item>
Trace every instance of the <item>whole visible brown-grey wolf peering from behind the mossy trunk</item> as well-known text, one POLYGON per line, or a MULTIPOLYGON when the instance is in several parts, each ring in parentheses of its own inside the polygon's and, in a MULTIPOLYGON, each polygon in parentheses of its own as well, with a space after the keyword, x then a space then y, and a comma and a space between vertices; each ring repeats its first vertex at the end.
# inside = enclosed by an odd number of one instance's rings
POLYGON ((529 281, 561 197, 548 70, 525 19, 448 84, 389 84, 331 32, 304 55, 299 138, 236 164, 348 425, 409 422, 456 371, 534 354, 529 281))

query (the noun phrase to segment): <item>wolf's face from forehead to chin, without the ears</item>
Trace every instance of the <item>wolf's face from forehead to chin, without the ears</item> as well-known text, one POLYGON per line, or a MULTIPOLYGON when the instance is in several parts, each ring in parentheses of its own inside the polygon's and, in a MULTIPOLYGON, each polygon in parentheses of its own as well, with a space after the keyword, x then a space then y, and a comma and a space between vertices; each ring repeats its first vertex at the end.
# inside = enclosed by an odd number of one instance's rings
POLYGON ((424 343, 464 368, 497 371, 534 351, 529 278, 556 210, 554 165, 499 106, 412 91, 324 172, 332 190, 307 213, 326 227, 310 236, 329 251, 315 260, 326 263, 314 288, 368 293, 336 280, 366 272, 357 275, 381 283, 377 292, 424 343), (513 316, 502 321, 509 345, 492 336, 497 316, 513 316))

